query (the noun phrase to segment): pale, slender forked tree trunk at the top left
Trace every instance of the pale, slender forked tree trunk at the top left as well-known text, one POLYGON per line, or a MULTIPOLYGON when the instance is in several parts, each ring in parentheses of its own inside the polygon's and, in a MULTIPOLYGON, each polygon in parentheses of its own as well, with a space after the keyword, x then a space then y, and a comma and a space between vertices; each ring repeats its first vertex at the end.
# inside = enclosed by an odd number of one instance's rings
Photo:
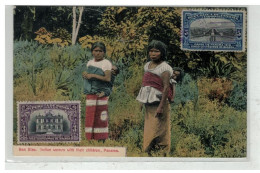
POLYGON ((77 40, 83 10, 84 10, 84 7, 79 7, 79 18, 78 18, 78 22, 77 22, 76 7, 72 8, 72 11, 73 11, 73 26, 72 26, 72 41, 71 41, 72 45, 74 45, 77 40))

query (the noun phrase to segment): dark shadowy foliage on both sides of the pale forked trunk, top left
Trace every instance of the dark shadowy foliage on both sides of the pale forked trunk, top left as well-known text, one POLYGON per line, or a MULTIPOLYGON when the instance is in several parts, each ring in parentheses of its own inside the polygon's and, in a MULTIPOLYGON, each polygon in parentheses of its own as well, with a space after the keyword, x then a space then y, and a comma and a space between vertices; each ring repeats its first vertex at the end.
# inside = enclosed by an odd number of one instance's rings
MULTIPOLYGON (((106 7, 85 7, 79 37, 96 34, 97 25, 106 7)), ((71 6, 16 6, 14 9, 14 40, 33 40, 41 27, 48 31, 63 28, 72 31, 71 6)))

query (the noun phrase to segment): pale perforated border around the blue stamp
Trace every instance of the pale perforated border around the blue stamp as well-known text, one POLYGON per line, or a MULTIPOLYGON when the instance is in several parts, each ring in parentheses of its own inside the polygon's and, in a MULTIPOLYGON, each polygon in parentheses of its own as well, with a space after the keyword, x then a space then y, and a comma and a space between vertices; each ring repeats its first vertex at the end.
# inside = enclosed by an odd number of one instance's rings
POLYGON ((181 50, 183 51, 212 51, 212 52, 245 52, 247 49, 247 7, 220 7, 220 8, 245 8, 246 10, 237 10, 237 9, 205 9, 205 8, 211 8, 211 7, 201 7, 201 8, 192 8, 192 9, 183 9, 181 11, 181 37, 180 37, 180 44, 181 44, 181 50), (183 40, 183 12, 184 11, 200 11, 200 12, 242 12, 245 16, 243 18, 243 43, 242 43, 242 50, 208 50, 208 49, 187 49, 183 48, 182 40, 183 40))

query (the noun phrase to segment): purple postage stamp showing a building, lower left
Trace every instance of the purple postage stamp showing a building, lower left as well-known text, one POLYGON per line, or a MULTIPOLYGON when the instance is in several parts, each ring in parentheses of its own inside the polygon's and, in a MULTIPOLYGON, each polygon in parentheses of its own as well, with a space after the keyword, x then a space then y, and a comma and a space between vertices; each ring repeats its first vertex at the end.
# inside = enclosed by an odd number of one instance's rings
POLYGON ((80 142, 80 101, 17 102, 18 143, 80 142))

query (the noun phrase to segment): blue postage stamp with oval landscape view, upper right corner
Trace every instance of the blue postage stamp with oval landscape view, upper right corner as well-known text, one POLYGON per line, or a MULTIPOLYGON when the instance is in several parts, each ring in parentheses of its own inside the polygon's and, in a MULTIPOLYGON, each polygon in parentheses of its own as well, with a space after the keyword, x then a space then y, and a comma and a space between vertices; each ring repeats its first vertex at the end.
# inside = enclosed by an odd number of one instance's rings
POLYGON ((245 51, 245 11, 182 11, 181 48, 245 51))

